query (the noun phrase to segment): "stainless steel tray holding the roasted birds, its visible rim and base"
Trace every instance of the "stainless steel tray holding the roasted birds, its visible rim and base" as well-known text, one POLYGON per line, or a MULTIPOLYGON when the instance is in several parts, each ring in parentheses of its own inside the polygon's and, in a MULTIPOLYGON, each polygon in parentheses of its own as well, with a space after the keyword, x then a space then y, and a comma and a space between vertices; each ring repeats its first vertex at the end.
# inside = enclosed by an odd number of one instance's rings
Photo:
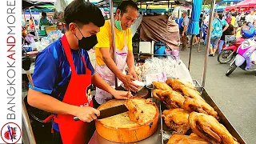
MULTIPOLYGON (((234 138, 236 138, 240 144, 246 144, 246 142, 238 134, 237 130, 234 129, 234 126, 231 125, 230 121, 222 113, 222 110, 220 110, 218 108, 218 106, 215 104, 214 100, 212 98, 210 98, 210 95, 206 92, 206 90, 202 86, 200 86, 200 84, 197 81, 194 80, 193 82, 194 82, 194 84, 195 84, 194 86, 196 86, 198 92, 202 95, 202 98, 204 98, 206 100, 206 102, 210 106, 212 106, 214 108, 214 110, 216 110, 218 112, 218 116, 220 118, 220 123, 222 123, 222 125, 225 126, 227 130, 229 130, 230 134, 232 134, 232 136, 234 138)), ((161 108, 162 108, 162 110, 165 109, 165 106, 162 102, 161 102, 161 108)), ((161 125, 162 144, 166 144, 171 136, 172 130, 170 130, 170 128, 168 128, 166 126, 163 118, 161 118, 161 123, 162 123, 162 125, 161 125)), ((187 134, 189 134, 189 133, 191 133, 190 130, 187 132, 187 134)))

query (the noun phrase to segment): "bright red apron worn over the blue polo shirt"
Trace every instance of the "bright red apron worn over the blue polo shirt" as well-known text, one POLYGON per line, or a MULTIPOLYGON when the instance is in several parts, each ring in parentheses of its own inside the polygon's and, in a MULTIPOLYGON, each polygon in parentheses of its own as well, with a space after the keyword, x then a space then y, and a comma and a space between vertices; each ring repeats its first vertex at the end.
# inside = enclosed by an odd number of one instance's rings
MULTIPOLYGON (((85 58, 82 56, 82 62, 86 67, 86 74, 77 74, 70 51, 69 43, 67 42, 66 35, 62 37, 62 46, 64 47, 66 58, 70 63, 71 78, 70 83, 66 89, 63 101, 74 106, 91 106, 90 94, 87 94, 87 88, 91 84, 91 71, 87 69, 85 58), (89 102, 88 102, 89 99, 89 102)), ((74 121, 74 115, 58 114, 54 118, 54 122, 58 123, 60 134, 62 136, 63 144, 86 144, 90 139, 87 138, 87 130, 89 123, 82 121, 74 121)))

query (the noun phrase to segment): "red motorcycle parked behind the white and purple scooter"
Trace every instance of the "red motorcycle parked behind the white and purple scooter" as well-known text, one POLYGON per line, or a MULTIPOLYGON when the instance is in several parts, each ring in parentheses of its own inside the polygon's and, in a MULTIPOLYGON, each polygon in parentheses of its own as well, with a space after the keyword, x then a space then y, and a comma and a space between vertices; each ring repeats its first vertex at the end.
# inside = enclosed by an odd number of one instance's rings
POLYGON ((228 46, 222 49, 222 52, 218 54, 218 62, 219 63, 227 63, 230 62, 236 55, 236 51, 238 50, 238 46, 244 42, 246 38, 235 38, 235 36, 231 36, 226 44, 228 46))

